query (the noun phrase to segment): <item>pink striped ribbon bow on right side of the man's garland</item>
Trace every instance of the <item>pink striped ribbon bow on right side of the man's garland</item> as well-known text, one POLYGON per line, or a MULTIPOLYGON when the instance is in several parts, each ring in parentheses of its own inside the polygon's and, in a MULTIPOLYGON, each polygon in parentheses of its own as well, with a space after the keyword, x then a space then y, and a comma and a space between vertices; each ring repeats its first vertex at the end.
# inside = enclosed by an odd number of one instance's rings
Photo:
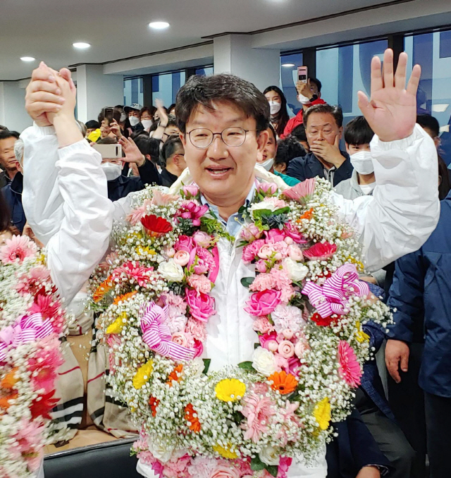
POLYGON ((369 294, 369 287, 366 282, 359 281, 355 264, 345 264, 327 278, 322 287, 308 282, 302 293, 309 297, 311 305, 324 319, 332 314, 347 314, 347 298, 350 295, 364 297, 369 294))

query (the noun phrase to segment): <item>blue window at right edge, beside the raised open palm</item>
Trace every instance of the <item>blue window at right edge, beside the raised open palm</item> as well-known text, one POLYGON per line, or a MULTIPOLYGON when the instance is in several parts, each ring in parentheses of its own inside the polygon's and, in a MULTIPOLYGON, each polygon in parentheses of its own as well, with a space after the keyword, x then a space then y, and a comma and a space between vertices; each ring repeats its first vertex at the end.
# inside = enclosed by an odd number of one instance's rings
POLYGON ((421 66, 421 79, 416 94, 416 112, 431 114, 440 124, 440 155, 451 163, 451 30, 409 35, 404 50, 412 65, 421 66))

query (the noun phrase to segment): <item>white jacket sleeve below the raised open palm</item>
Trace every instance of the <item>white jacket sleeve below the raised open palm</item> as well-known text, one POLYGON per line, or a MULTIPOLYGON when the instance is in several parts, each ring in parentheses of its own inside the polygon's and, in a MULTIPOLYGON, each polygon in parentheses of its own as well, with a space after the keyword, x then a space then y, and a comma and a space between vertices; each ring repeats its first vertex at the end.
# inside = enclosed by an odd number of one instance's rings
POLYGON ((371 141, 376 188, 373 196, 333 201, 354 227, 364 248, 366 269, 376 271, 423 245, 440 214, 437 150, 415 125, 404 140, 371 141))

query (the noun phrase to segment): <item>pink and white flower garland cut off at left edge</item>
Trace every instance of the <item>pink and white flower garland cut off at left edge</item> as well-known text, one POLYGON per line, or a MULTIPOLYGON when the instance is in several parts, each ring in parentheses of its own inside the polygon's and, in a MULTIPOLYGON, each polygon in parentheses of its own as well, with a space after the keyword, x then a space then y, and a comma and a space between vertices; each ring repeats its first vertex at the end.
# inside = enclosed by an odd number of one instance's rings
MULTIPOLYGON (((35 243, 13 236, 0 248, 0 476, 35 473, 53 433, 60 336, 68 320, 35 243)), ((58 437, 64 429, 58 428, 58 437)))

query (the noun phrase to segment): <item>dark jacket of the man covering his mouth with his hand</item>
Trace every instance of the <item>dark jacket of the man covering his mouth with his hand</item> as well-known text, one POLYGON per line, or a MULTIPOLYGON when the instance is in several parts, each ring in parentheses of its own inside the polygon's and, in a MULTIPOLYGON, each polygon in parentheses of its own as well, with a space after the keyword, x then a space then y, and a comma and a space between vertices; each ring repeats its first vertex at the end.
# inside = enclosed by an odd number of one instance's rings
MULTIPOLYGON (((333 171, 333 186, 335 187, 342 180, 349 179, 352 175, 352 164, 349 154, 341 151, 343 157, 346 158, 345 162, 340 168, 333 171)), ((288 164, 288 176, 297 178, 300 181, 304 181, 309 178, 326 178, 324 174, 324 166, 321 161, 315 157, 313 153, 309 153, 304 157, 293 158, 288 164)))

